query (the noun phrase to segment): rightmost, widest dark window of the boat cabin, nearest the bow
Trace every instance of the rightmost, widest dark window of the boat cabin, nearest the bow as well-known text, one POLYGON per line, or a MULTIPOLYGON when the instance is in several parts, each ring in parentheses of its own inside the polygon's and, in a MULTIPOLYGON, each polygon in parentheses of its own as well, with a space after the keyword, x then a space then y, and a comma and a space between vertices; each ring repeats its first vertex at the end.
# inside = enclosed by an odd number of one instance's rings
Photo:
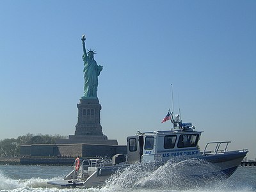
POLYGON ((198 142, 199 134, 181 134, 179 141, 178 141, 178 147, 196 147, 198 142))

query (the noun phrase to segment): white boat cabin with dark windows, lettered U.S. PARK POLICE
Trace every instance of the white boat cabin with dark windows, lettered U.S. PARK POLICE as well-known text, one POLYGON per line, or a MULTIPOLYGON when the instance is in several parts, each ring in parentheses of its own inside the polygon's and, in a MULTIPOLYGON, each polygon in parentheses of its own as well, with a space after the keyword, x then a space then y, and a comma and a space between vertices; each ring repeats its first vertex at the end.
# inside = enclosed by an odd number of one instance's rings
POLYGON ((182 129, 143 133, 138 131, 135 136, 127 137, 129 163, 199 156, 198 141, 202 132, 195 131, 190 123, 182 125, 180 126, 182 129))

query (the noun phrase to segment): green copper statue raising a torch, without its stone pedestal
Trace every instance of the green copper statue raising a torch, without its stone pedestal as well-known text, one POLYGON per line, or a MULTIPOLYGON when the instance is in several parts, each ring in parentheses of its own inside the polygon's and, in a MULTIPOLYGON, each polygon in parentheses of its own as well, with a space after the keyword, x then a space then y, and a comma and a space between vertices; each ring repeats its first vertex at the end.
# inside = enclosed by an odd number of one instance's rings
POLYGON ((102 71, 102 66, 97 65, 94 60, 93 54, 94 51, 88 50, 86 53, 85 49, 85 35, 81 38, 83 42, 83 61, 84 61, 84 96, 82 99, 86 98, 97 98, 97 89, 98 89, 98 76, 102 71))

